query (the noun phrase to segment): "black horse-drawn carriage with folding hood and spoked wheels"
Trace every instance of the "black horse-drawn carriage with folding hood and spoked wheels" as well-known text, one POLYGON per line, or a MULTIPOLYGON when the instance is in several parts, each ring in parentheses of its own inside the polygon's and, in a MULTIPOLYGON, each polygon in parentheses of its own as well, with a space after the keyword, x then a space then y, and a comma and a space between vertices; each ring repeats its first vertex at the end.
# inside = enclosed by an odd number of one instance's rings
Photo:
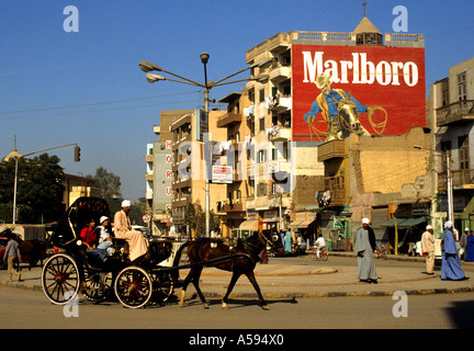
POLYGON ((95 252, 86 250, 79 237, 87 222, 93 218, 99 223, 101 216, 110 217, 104 200, 80 197, 58 222, 49 238, 57 253, 49 258, 42 272, 47 298, 53 304, 66 305, 80 290, 89 301, 101 302, 114 291, 117 299, 129 308, 169 298, 176 282, 172 274, 177 272, 167 270, 160 262, 170 261, 173 241, 147 238, 150 260, 137 265, 128 260, 126 240, 112 238, 113 253, 103 261, 95 252))

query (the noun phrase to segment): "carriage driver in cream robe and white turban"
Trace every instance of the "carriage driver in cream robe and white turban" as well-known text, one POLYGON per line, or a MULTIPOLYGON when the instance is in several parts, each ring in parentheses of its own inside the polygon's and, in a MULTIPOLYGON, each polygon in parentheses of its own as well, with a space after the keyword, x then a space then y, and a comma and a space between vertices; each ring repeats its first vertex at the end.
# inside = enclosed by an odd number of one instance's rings
POLYGON ((148 251, 146 239, 140 231, 132 229, 128 218, 132 203, 129 200, 122 202, 122 210, 114 216, 114 233, 119 239, 126 239, 129 247, 128 257, 131 261, 135 261, 148 251))

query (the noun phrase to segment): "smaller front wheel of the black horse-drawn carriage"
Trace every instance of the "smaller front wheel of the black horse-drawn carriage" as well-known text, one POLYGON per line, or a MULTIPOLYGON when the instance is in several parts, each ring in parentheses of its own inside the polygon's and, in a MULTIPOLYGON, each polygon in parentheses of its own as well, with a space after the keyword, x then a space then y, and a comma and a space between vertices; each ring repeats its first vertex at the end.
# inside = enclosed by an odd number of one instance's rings
POLYGON ((115 295, 125 307, 144 307, 149 302, 151 293, 151 278, 139 267, 125 268, 115 280, 115 295))

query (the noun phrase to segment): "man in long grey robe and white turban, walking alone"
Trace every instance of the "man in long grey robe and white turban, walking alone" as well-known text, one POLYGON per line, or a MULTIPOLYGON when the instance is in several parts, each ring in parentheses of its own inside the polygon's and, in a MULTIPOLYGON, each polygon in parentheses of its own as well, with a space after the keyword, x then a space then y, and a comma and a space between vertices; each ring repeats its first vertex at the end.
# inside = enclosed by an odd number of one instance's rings
POLYGON ((375 234, 369 226, 368 218, 362 219, 362 227, 358 229, 356 236, 354 251, 358 256, 359 281, 365 283, 377 283, 375 261, 373 252, 376 249, 375 234))

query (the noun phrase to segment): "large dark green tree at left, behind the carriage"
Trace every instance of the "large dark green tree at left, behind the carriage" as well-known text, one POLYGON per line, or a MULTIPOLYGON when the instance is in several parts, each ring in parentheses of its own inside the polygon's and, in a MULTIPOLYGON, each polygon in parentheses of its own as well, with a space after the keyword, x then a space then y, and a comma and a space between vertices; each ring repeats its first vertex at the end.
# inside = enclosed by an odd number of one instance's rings
MULTIPOLYGON (((33 159, 18 159, 16 208, 21 223, 58 220, 64 212, 65 174, 57 156, 42 154, 33 159)), ((15 158, 0 163, 0 216, 13 219, 15 158)))

